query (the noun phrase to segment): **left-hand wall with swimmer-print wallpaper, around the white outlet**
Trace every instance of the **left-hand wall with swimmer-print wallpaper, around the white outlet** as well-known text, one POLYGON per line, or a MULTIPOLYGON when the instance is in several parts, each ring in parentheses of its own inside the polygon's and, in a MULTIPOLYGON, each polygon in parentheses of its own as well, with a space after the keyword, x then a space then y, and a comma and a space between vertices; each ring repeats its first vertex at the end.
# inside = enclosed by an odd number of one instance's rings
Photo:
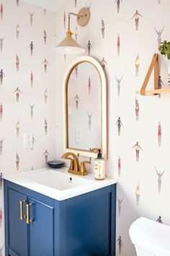
MULTIPOLYGON (((3 106, 3 114, 0 116, 0 141, 4 141, 0 153, 0 172, 6 174, 44 167, 45 150, 50 153, 48 159, 53 159, 55 155, 54 137, 57 129, 53 108, 55 56, 51 51, 55 45, 55 22, 53 12, 45 13, 44 9, 24 4, 22 1, 19 1, 18 7, 17 1, 14 0, 2 1, 2 4, 4 13, 0 19, 0 39, 4 38, 4 40, 2 51, 0 51, 0 69, 3 69, 4 78, 0 85, 0 104, 3 106), (33 14, 32 26, 30 14, 33 14), (19 38, 17 39, 18 24, 19 38), (44 29, 47 35, 46 44, 44 29), (34 46, 32 55, 31 42, 34 46), (19 57, 18 71, 16 55, 19 57), (44 59, 48 61, 47 72, 42 64, 44 59), (32 85, 31 73, 33 74, 32 85), (21 92, 18 102, 14 92, 17 88, 21 92), (46 103, 45 90, 47 90, 46 103), (34 106, 32 118, 30 106, 34 106), (47 134, 45 134, 45 119, 48 123, 47 134), (17 124, 18 121, 19 124, 17 124), (35 139, 33 149, 24 149, 24 132, 33 133, 35 139), (18 170, 16 161, 19 162, 18 170)), ((4 206, 3 188, 1 188, 0 252, 3 246, 4 206)))

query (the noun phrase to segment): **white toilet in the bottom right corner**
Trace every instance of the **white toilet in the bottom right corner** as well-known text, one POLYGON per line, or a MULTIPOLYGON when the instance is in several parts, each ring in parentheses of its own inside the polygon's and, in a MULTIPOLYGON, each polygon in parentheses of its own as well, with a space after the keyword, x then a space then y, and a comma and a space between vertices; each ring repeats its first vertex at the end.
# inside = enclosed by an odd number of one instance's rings
POLYGON ((170 256, 170 226, 138 218, 130 226, 129 234, 137 256, 170 256))

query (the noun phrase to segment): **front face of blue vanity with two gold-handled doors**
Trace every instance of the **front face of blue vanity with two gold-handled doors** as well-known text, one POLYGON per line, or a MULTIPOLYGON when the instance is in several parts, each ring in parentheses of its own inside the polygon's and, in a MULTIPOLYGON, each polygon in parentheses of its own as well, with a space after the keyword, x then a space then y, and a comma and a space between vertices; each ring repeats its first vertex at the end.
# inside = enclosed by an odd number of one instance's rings
POLYGON ((53 199, 4 180, 6 256, 54 255, 53 199), (20 219, 20 201, 23 220, 20 219), (29 220, 27 223, 27 205, 29 220))

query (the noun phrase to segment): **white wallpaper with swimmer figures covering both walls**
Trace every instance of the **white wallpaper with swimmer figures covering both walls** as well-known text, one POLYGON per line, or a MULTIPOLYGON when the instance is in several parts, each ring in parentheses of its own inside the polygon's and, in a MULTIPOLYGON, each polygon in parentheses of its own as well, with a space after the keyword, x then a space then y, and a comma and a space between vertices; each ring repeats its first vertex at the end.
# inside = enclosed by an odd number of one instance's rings
MULTIPOLYGON (((135 255, 128 229, 136 218, 145 216, 170 225, 169 95, 135 95, 160 41, 169 40, 169 0, 69 0, 57 12, 55 24, 52 13, 22 1, 0 1, 0 5, 3 173, 40 168, 47 158, 55 157, 55 150, 58 156, 63 154, 61 85, 66 67, 76 56, 55 59, 51 49, 65 37, 68 12, 91 5, 89 25, 79 27, 76 17, 71 17, 71 30, 85 48, 90 40, 91 56, 102 61, 107 72, 106 172, 118 180, 117 255, 135 255), (24 149, 23 132, 33 132, 30 150, 24 149)), ((162 56, 159 61, 160 82, 167 86, 168 61, 162 56)), ((153 78, 149 84, 152 87, 153 78)), ((4 253, 3 219, 0 179, 0 255, 4 253)))

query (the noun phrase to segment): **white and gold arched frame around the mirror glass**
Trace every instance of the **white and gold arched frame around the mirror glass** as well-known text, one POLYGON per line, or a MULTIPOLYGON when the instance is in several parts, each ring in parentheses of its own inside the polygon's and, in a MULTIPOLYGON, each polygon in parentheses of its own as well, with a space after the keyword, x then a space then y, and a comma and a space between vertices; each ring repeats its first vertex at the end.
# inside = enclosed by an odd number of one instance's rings
POLYGON ((79 154, 91 158, 97 157, 97 153, 92 150, 68 148, 68 80, 73 69, 84 62, 89 62, 97 69, 101 80, 101 149, 102 157, 107 159, 107 77, 99 61, 91 56, 81 56, 73 60, 63 77, 63 150, 76 155, 79 154))

